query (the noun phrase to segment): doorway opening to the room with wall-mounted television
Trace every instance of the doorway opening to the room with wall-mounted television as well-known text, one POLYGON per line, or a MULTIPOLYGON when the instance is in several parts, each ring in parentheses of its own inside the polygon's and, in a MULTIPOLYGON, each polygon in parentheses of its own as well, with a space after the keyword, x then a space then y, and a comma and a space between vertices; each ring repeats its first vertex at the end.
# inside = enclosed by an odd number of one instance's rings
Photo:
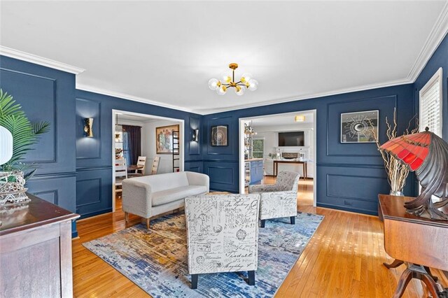
MULTIPOLYGON (((299 196, 316 206, 316 110, 239 118, 239 192, 300 173, 299 196)), ((302 202, 303 203, 303 202, 302 202)))

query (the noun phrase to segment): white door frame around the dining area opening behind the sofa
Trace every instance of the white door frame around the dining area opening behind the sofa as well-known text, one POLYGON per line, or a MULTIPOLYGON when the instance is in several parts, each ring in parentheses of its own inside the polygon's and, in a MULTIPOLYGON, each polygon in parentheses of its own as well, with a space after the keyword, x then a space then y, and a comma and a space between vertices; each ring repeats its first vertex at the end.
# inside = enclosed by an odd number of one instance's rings
POLYGON ((181 136, 179 139, 179 143, 181 143, 181 152, 180 152, 181 160, 180 160, 180 164, 179 164, 179 171, 183 171, 184 162, 185 162, 185 158, 184 158, 185 120, 113 109, 112 110, 112 194, 113 194, 112 195, 112 212, 115 212, 115 198, 116 198, 116 193, 115 193, 115 188, 116 188, 116 186, 115 186, 115 125, 116 125, 116 115, 117 114, 135 115, 135 116, 148 117, 148 118, 153 118, 153 119, 179 122, 179 129, 181 131, 181 136))

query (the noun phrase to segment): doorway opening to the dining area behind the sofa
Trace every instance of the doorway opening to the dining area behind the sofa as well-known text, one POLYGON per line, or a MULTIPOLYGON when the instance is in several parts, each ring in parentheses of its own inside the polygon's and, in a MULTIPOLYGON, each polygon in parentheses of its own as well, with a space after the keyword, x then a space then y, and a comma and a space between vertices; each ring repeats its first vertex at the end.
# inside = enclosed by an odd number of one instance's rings
POLYGON ((183 171, 184 130, 181 119, 112 110, 112 212, 123 178, 183 171))

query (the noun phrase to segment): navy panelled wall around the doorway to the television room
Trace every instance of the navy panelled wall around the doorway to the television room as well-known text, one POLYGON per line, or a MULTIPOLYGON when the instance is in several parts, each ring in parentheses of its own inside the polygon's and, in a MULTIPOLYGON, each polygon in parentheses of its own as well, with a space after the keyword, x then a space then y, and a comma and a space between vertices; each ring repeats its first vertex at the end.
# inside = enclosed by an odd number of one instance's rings
MULTIPOLYGON (((340 115, 379 110, 382 143, 386 141, 385 119, 393 118, 394 108, 402 132, 414 115, 412 84, 206 115, 202 127, 204 173, 210 176, 212 190, 238 192, 239 118, 316 109, 317 205, 377 214, 377 194, 389 191, 383 161, 373 143, 339 142, 340 115), (214 125, 228 125, 229 146, 210 146, 209 134, 214 125)), ((414 193, 413 183, 405 192, 414 193)))

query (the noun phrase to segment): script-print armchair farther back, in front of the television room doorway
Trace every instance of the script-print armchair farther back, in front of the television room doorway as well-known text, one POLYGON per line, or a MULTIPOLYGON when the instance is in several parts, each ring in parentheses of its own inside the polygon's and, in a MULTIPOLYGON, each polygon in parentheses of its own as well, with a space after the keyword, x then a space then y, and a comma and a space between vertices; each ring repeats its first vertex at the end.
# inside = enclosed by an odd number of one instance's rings
POLYGON ((250 194, 261 194, 261 227, 271 218, 289 217, 291 224, 295 224, 299 178, 299 173, 280 171, 274 185, 249 185, 250 194))

